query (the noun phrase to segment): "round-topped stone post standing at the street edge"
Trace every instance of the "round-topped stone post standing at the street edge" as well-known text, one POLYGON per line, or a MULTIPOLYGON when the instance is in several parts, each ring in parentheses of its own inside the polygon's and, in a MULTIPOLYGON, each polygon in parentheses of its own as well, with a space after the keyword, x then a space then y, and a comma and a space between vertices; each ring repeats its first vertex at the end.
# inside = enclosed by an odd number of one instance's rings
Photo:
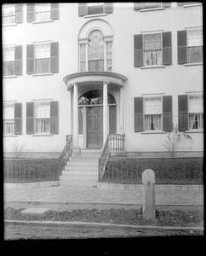
POLYGON ((155 173, 146 169, 142 173, 143 183, 143 218, 155 219, 155 173))

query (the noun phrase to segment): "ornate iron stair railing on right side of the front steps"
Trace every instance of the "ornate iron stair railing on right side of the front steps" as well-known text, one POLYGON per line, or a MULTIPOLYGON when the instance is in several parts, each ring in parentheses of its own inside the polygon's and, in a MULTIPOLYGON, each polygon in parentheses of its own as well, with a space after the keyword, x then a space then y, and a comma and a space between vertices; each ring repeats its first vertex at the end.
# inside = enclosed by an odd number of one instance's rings
POLYGON ((111 155, 117 156, 125 153, 124 137, 124 134, 108 134, 99 158, 99 179, 104 175, 106 163, 111 155))

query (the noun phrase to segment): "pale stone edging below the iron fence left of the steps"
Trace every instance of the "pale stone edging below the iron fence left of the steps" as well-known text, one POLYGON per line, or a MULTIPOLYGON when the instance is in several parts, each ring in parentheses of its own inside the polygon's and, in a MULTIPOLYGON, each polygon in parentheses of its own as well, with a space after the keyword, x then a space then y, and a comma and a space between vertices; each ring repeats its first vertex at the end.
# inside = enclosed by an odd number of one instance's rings
POLYGON ((40 183, 3 183, 3 189, 36 189, 59 186, 59 181, 40 182, 40 183))

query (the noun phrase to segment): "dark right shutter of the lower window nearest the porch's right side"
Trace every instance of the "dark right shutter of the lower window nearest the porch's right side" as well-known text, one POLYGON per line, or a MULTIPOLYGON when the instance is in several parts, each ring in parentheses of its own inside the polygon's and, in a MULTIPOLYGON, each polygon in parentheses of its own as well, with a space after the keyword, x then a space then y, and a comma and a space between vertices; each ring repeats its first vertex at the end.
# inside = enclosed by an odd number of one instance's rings
POLYGON ((163 96, 163 131, 172 131, 172 96, 163 96))

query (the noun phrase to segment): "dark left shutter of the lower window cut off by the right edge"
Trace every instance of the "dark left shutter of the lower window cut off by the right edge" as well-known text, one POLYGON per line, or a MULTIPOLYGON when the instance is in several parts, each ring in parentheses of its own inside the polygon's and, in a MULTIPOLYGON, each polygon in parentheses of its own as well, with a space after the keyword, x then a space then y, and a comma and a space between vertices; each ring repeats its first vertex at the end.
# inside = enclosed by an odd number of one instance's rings
POLYGON ((179 131, 188 129, 187 95, 178 96, 178 127, 179 131))

